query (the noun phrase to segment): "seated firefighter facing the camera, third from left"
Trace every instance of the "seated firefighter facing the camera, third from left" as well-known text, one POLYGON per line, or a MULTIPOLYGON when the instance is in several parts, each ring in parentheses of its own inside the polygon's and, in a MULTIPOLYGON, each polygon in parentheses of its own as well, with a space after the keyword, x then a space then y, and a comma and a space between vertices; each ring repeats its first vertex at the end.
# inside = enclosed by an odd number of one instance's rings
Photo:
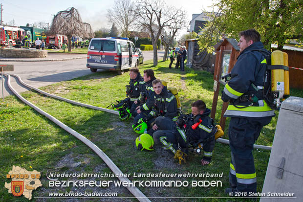
POLYGON ((152 81, 154 90, 153 108, 151 112, 138 122, 147 123, 149 129, 148 134, 152 135, 157 130, 165 130, 168 126, 174 124, 177 120, 177 101, 173 93, 165 86, 161 80, 152 81))

